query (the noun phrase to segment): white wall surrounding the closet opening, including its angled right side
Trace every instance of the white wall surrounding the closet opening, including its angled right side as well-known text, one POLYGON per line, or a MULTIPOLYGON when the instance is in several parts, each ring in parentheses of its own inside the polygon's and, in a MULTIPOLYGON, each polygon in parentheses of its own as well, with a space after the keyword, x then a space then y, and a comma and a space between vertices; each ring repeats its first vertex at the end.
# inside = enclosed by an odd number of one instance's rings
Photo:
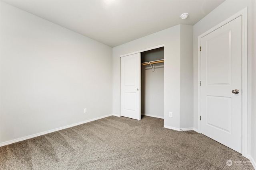
POLYGON ((120 115, 120 55, 164 44, 164 127, 193 127, 192 33, 192 26, 176 25, 113 48, 114 114, 120 115))

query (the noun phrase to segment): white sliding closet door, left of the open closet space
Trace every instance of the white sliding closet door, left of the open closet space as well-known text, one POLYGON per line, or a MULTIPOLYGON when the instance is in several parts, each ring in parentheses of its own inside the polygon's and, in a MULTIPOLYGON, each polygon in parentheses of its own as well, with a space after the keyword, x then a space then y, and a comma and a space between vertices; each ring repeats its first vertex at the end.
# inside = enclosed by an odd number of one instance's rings
POLYGON ((140 53, 121 57, 121 116, 140 120, 140 53))

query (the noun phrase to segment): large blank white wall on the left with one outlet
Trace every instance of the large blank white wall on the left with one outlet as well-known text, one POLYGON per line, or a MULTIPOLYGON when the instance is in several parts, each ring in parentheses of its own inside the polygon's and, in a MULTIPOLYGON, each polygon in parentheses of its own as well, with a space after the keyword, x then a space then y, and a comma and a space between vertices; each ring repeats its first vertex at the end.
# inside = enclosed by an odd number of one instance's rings
POLYGON ((0 11, 0 144, 112 114, 111 47, 3 2, 0 11))

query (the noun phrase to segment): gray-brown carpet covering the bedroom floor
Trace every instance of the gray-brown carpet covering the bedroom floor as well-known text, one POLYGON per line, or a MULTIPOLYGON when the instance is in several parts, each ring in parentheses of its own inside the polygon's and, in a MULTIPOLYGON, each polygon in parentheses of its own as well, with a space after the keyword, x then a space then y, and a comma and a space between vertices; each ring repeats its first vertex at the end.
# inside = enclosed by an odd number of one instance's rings
POLYGON ((0 169, 254 169, 247 158, 202 134, 163 124, 147 116, 106 117, 0 147, 0 169))

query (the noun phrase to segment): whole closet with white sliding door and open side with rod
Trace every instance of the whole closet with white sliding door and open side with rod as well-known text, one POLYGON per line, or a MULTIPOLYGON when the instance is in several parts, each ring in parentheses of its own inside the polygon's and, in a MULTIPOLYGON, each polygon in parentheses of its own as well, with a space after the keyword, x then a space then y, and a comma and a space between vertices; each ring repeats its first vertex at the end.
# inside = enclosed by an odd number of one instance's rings
POLYGON ((164 47, 121 56, 121 116, 164 118, 164 47))

